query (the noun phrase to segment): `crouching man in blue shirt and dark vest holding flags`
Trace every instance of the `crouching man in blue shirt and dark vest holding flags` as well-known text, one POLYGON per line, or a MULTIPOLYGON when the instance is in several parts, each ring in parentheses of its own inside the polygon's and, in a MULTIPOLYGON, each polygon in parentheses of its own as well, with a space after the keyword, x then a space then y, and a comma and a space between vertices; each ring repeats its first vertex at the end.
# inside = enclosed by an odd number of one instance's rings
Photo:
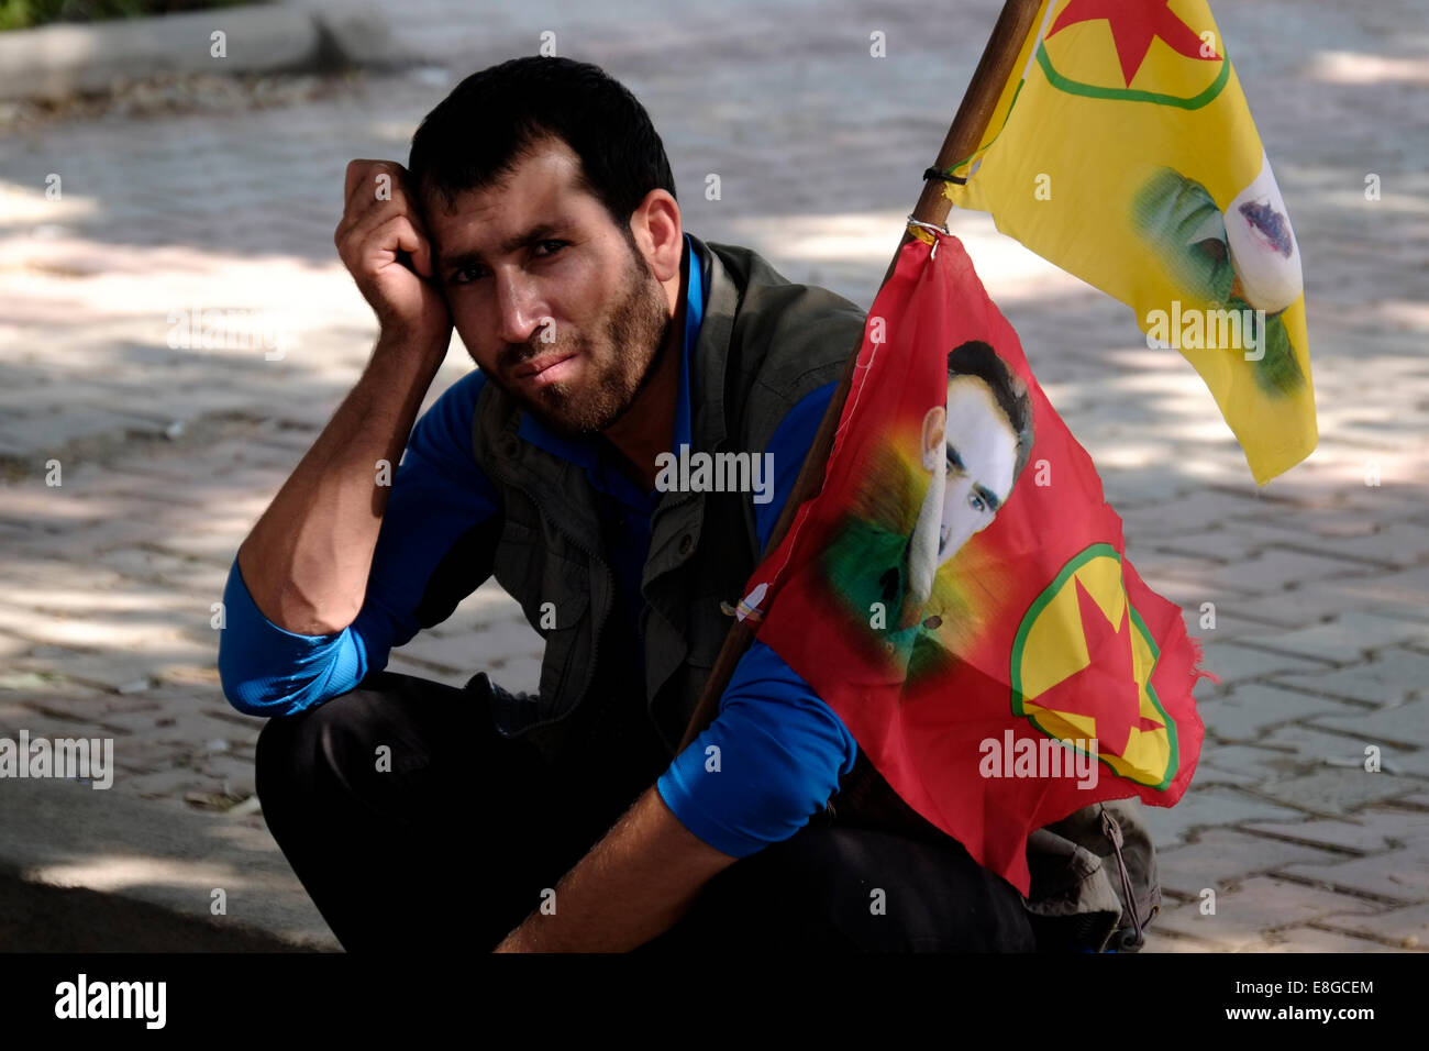
POLYGON ((767 648, 676 755, 862 313, 686 235, 589 64, 469 77, 409 169, 349 164, 336 243, 380 335, 244 541, 219 655, 274 716, 263 812, 343 945, 1032 948, 952 839, 833 822, 857 746, 767 648), (480 370, 416 420, 453 326, 480 370), (657 492, 682 443, 773 455, 775 499, 657 492), (380 671, 490 575, 546 639, 537 694, 380 671))

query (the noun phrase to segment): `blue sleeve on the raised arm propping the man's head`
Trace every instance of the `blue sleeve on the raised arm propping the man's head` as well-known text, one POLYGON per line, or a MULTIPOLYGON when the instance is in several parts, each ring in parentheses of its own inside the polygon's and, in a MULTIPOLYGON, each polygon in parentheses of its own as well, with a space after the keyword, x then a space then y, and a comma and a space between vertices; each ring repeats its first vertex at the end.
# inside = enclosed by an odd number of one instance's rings
MULTIPOLYGON (((393 646, 424 626, 417 609, 446 553, 500 509, 472 455, 472 422, 484 378, 453 383, 417 420, 393 478, 377 535, 367 595, 357 618, 332 635, 297 635, 253 602, 237 559, 223 592, 219 678, 247 715, 294 715, 387 666, 393 646)), ((479 581, 472 586, 474 588, 479 581)))

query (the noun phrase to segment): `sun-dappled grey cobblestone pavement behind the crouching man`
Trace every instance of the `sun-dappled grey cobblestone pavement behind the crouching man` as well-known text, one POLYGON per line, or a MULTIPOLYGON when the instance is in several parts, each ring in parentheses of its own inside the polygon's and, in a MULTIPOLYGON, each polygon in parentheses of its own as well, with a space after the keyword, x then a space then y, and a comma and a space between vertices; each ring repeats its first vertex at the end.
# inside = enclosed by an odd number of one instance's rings
MULTIPOLYGON (((410 0, 400 37, 419 69, 286 109, 0 139, 0 735, 114 736, 113 791, 151 799, 156 819, 187 808, 262 828, 260 724, 220 695, 211 603, 374 335, 332 247, 343 167, 404 160, 457 77, 556 31, 560 53, 649 106, 687 229, 867 306, 996 7, 927 24, 925 4, 869 0, 820 3, 817 19, 806 3, 476 16, 410 0), (867 57, 873 30, 886 60, 867 57), (710 172, 719 202, 700 193, 710 172), (280 349, 171 349, 173 312, 210 307, 254 312, 280 349)), ((1152 948, 1422 948, 1429 27, 1409 0, 1218 17, 1302 242, 1322 430, 1309 462, 1256 492, 1209 393, 1145 347, 1125 307, 983 216, 952 222, 1100 466, 1133 562, 1220 675, 1202 684, 1192 791, 1150 812, 1167 895, 1152 948)), ((466 367, 456 346, 434 393, 466 367)), ((487 668, 534 689, 539 656, 493 583, 392 666, 446 682, 487 668)))

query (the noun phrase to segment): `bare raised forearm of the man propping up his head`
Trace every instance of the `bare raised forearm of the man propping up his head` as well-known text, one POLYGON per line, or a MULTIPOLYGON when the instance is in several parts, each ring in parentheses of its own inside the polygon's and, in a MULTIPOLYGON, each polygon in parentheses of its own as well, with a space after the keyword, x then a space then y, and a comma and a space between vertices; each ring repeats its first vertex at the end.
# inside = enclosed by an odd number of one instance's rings
POLYGON ((362 379, 243 542, 243 581, 280 628, 324 635, 362 609, 390 475, 444 352, 444 343, 379 339, 362 379), (382 460, 387 476, 379 479, 382 460))

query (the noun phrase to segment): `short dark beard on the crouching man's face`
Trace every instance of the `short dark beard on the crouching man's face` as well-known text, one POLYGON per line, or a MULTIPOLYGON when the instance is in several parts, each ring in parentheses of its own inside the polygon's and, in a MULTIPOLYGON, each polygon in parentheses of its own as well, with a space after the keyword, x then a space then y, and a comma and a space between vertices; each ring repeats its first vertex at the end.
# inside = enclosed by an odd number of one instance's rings
POLYGON ((490 379, 557 435, 599 433, 620 419, 650 382, 664 355, 670 323, 664 292, 632 245, 614 303, 593 325, 596 337, 567 330, 566 337, 544 343, 537 332, 527 343, 509 346, 500 357, 499 370, 506 372, 542 355, 573 352, 587 365, 582 382, 550 383, 529 398, 507 388, 494 373, 490 379))

